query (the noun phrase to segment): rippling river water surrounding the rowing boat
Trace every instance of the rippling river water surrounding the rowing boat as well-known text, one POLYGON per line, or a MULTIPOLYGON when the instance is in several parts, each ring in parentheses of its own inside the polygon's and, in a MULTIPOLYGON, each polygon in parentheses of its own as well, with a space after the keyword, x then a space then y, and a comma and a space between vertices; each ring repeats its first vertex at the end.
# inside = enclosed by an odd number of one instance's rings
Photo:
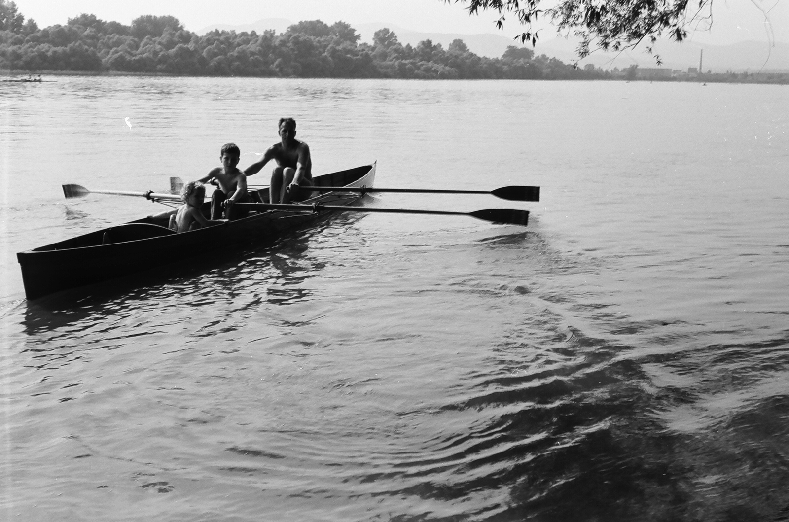
POLYGON ((6 520, 789 518, 786 87, 56 79, 0 93, 6 520), (62 183, 161 192, 285 115, 316 173, 542 201, 24 300, 15 252, 159 210, 62 183))

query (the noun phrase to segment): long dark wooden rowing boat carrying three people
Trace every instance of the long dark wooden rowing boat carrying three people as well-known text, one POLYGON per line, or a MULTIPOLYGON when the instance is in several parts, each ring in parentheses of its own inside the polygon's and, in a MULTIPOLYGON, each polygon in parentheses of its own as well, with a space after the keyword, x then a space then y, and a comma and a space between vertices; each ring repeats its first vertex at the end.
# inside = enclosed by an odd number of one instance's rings
MULTIPOLYGON (((372 187, 375 177, 376 163, 372 163, 328 173, 316 177, 314 182, 316 186, 361 188, 372 187)), ((268 188, 252 192, 256 192, 261 201, 268 200, 268 188)), ((302 204, 343 206, 362 197, 364 192, 312 192, 302 204)), ((211 203, 206 201, 201 208, 207 218, 210 207, 211 203)), ((168 229, 168 218, 149 216, 19 252, 17 260, 22 269, 24 293, 32 300, 204 255, 212 250, 261 243, 330 214, 282 209, 252 211, 245 218, 184 233, 168 229)))

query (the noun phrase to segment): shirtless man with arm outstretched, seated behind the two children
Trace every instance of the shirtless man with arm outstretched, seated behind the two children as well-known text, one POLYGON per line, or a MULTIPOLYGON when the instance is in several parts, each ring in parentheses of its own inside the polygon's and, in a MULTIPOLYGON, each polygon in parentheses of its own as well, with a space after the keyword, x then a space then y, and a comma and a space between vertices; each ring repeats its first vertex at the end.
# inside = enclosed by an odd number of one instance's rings
POLYGON ((271 203, 290 203, 303 201, 310 196, 309 191, 298 187, 312 186, 312 157, 309 146, 296 139, 296 121, 292 117, 279 118, 279 144, 273 144, 259 162, 252 163, 244 173, 252 176, 272 159, 277 166, 271 173, 268 193, 271 203))

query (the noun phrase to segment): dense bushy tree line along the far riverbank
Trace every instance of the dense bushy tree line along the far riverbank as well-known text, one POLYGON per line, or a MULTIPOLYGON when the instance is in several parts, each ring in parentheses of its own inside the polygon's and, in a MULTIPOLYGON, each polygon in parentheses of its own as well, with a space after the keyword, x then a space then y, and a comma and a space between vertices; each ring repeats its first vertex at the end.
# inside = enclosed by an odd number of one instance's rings
POLYGON ((447 49, 426 39, 412 47, 380 29, 372 44, 346 22, 301 21, 273 30, 212 31, 196 35, 175 17, 151 15, 125 25, 93 14, 38 28, 13 2, 0 0, 0 68, 26 72, 116 71, 193 76, 297 76, 417 79, 596 79, 600 69, 577 69, 525 47, 500 58, 478 56, 455 39, 447 49), (13 8, 13 9, 9 9, 13 8))

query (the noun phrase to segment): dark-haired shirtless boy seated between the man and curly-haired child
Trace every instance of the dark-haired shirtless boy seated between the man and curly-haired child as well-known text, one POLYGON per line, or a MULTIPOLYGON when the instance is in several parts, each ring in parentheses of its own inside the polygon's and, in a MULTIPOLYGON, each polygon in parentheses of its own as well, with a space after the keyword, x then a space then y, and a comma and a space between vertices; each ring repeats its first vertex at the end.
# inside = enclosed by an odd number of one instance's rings
POLYGON ((247 203, 249 196, 246 189, 246 176, 238 170, 238 160, 241 158, 241 151, 236 144, 222 145, 219 159, 222 166, 211 169, 208 175, 201 177, 200 183, 208 183, 214 178, 219 183, 219 190, 215 190, 211 196, 211 219, 222 217, 222 207, 224 207, 225 218, 233 221, 234 219, 244 218, 249 211, 242 210, 241 207, 234 207, 233 203, 247 203))

